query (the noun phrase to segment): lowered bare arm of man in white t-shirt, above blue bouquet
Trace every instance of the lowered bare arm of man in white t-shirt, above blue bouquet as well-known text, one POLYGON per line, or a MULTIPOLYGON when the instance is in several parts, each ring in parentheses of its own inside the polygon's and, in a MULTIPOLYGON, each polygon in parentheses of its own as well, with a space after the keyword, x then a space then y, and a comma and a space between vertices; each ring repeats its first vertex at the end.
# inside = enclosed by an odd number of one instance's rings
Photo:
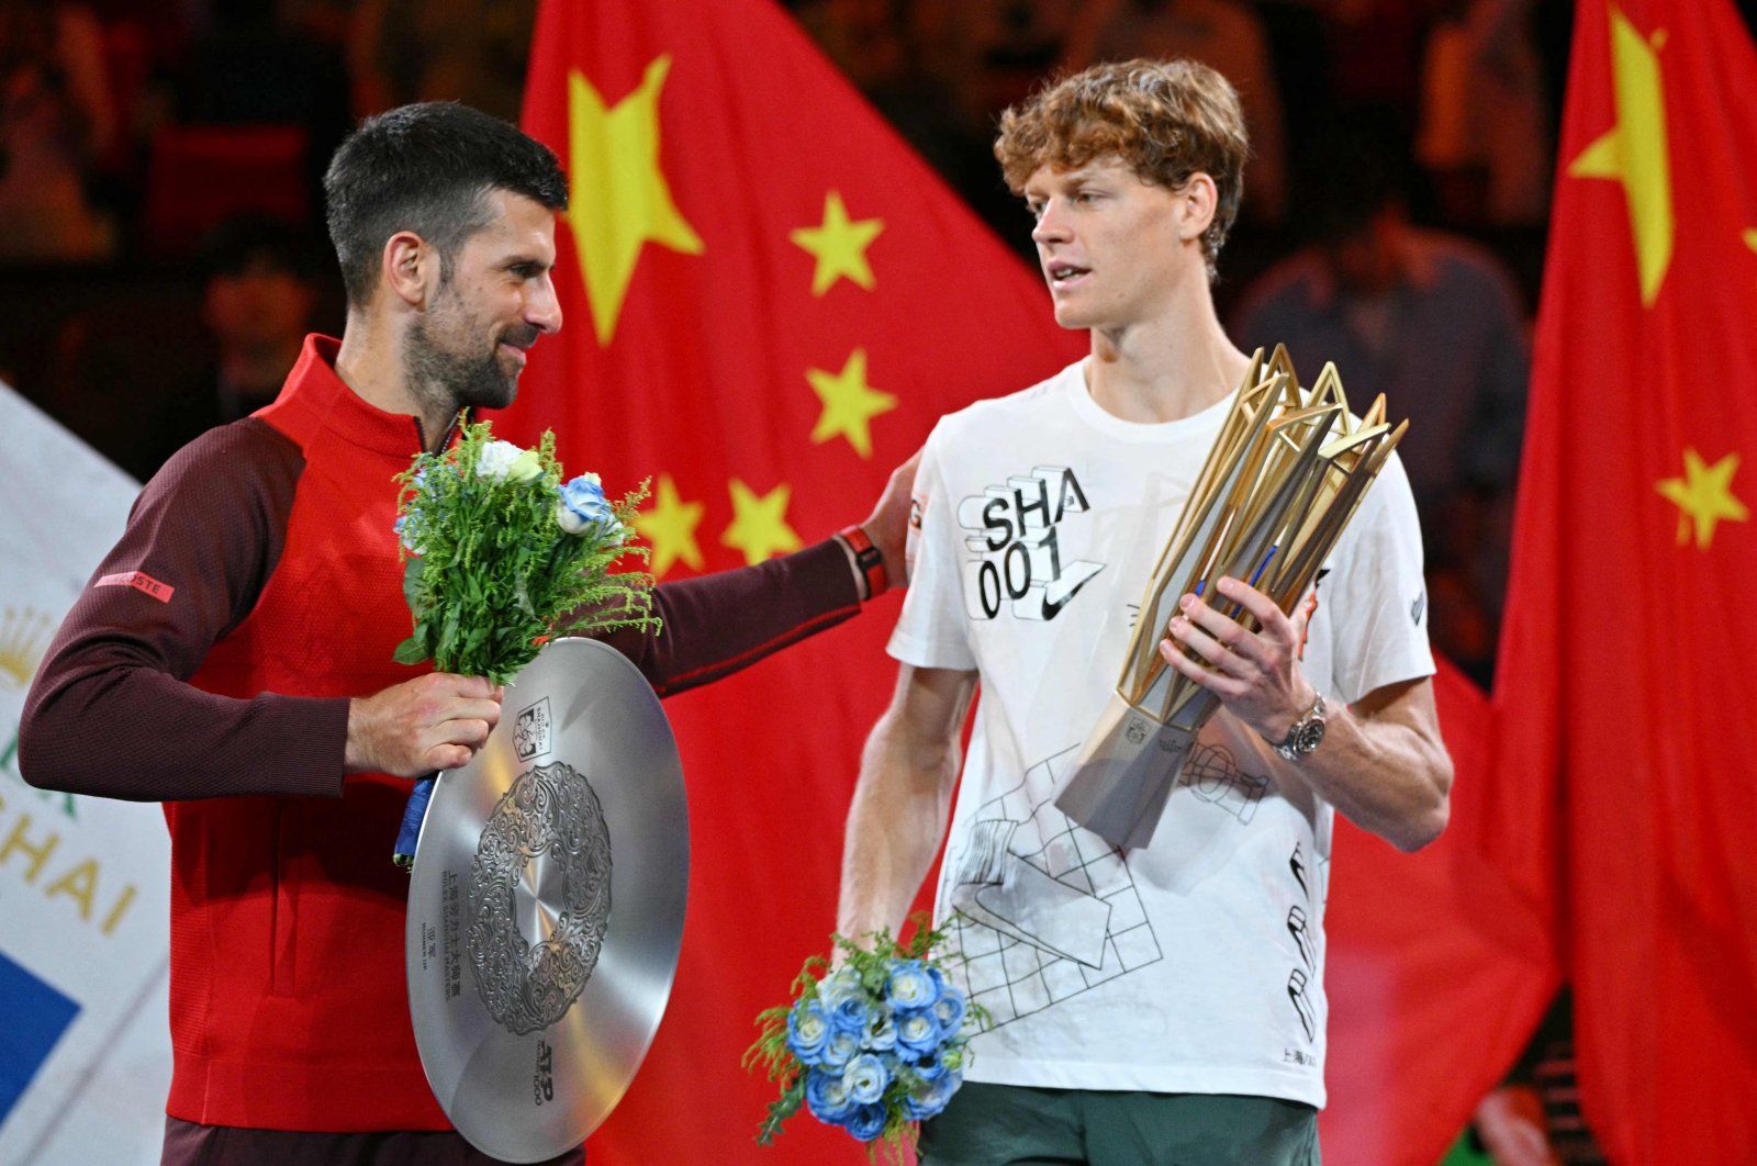
POLYGON ((864 936, 901 927, 945 836, 958 745, 977 674, 898 671, 891 708, 873 725, 842 845, 836 931, 864 936))

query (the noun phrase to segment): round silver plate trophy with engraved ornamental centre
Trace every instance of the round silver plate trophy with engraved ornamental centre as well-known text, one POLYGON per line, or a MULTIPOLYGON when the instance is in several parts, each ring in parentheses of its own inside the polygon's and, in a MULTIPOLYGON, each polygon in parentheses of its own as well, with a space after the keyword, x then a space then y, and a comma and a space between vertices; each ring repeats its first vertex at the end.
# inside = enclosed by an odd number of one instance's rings
POLYGON ((439 776, 409 878, 415 1041, 471 1145, 538 1162, 610 1115, 671 994, 687 892, 659 699, 613 648, 552 643, 439 776))

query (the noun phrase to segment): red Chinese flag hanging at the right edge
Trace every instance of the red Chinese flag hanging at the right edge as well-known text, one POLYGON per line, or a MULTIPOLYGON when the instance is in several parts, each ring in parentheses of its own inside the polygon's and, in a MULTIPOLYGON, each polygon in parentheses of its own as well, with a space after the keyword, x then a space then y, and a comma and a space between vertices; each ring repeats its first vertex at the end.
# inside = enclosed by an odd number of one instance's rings
POLYGON ((1757 1161, 1757 56, 1576 9, 1483 845, 1565 934, 1611 1161, 1757 1161))

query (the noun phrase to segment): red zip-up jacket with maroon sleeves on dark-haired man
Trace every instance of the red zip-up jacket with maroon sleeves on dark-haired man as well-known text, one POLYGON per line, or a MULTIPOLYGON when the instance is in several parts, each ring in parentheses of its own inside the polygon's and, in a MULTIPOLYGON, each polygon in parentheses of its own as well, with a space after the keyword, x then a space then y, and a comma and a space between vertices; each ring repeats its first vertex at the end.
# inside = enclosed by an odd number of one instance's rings
MULTIPOLYGON (((209 1126, 446 1129, 404 989, 409 781, 343 778, 348 699, 423 669, 392 478, 420 450, 309 337, 279 399, 202 435, 146 486, 25 706, 44 788, 163 801, 172 843, 167 1112, 209 1126)), ((826 541, 655 588, 662 636, 618 632, 661 694, 859 609, 826 541)))

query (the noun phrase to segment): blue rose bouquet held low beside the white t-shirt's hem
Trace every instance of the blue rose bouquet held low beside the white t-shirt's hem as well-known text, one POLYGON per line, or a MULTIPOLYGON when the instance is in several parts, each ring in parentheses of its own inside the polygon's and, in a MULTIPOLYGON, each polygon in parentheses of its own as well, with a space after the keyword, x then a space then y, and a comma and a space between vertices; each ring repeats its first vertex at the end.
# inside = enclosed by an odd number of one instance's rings
POLYGON ((794 999, 757 1015, 761 1036, 745 1050, 745 1068, 780 1082, 757 1129, 768 1145, 803 1106, 821 1122, 859 1141, 898 1152, 914 1145, 922 1122, 952 1099, 970 1061, 970 1036, 984 1024, 929 954, 945 938, 917 915, 907 943, 878 931, 871 946, 833 941, 843 962, 805 961, 794 999))

